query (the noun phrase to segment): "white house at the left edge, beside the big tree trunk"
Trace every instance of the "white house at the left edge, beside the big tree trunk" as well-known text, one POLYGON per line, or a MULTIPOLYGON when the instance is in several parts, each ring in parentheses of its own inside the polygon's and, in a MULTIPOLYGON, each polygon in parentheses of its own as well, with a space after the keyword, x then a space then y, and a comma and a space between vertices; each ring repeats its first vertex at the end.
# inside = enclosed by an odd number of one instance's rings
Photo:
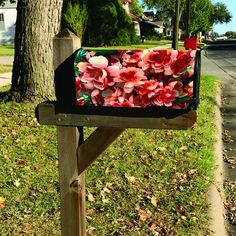
POLYGON ((14 43, 17 3, 5 1, 0 6, 0 44, 14 43))

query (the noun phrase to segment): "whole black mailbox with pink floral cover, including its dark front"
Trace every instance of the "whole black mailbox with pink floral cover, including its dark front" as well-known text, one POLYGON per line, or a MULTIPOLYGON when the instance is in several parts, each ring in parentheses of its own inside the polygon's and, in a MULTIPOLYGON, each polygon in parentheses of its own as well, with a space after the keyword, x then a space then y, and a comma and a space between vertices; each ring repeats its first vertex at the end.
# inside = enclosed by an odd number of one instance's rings
POLYGON ((60 113, 175 117, 199 104, 198 50, 79 49, 55 71, 60 113))

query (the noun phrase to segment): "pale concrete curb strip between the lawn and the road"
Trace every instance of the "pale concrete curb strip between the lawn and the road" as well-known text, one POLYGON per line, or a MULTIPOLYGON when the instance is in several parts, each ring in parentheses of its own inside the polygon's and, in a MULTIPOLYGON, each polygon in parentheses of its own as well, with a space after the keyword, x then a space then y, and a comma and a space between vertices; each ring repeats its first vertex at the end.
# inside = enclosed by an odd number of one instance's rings
POLYGON ((224 168, 223 168, 223 141, 222 141, 222 116, 221 108, 221 88, 218 85, 216 96, 216 111, 215 111, 215 124, 217 128, 216 143, 215 143, 215 157, 216 169, 215 180, 208 193, 209 201, 209 217, 210 217, 210 230, 214 236, 227 236, 226 220, 225 220, 225 194, 224 194, 224 168))

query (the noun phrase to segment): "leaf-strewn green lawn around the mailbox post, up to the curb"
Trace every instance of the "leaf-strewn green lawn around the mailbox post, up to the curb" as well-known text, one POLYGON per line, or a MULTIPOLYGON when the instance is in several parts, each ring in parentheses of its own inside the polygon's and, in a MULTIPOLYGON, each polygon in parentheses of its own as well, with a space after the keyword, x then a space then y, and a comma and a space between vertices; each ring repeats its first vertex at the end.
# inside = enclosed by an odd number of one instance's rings
MULTIPOLYGON (((209 235, 216 86, 202 76, 193 129, 128 129, 92 164, 88 235, 209 235)), ((56 130, 40 126, 27 104, 2 99, 0 116, 1 234, 59 235, 56 130)))

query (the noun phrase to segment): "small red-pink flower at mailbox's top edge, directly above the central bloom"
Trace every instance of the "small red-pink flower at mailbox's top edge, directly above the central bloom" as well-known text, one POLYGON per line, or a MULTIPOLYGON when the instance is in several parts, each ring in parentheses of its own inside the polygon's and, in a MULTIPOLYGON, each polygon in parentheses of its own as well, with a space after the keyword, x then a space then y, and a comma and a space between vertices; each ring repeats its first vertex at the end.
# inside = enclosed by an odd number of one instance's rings
POLYGON ((122 55, 123 65, 127 67, 137 66, 141 61, 142 50, 125 50, 122 55))

